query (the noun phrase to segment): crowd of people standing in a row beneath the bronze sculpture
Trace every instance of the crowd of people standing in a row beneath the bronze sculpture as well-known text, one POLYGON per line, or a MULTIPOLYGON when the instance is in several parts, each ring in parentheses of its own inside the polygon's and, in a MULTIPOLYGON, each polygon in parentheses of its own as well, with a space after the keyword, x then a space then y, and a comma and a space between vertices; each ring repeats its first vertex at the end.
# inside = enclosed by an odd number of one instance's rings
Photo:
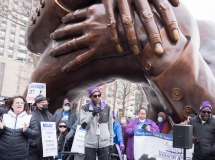
MULTIPOLYGON (((54 115, 49 112, 49 99, 43 95, 35 97, 31 111, 24 97, 14 96, 6 102, 0 115, 0 160, 48 160, 62 159, 65 148, 69 151, 77 125, 85 129, 85 154, 72 159, 109 160, 110 153, 126 154, 134 160, 134 130, 169 133, 170 124, 165 112, 159 112, 157 121, 147 118, 147 109, 140 108, 138 116, 128 121, 127 117, 116 120, 114 111, 101 99, 101 90, 92 86, 88 90, 90 102, 81 113, 71 109, 67 98, 54 115), (40 122, 55 122, 59 155, 43 157, 40 122), (66 142, 66 143, 65 143, 66 142)), ((210 102, 202 102, 199 114, 189 114, 182 125, 193 126, 193 160, 215 159, 215 119, 210 102)), ((118 158, 116 158, 118 159, 118 158)))

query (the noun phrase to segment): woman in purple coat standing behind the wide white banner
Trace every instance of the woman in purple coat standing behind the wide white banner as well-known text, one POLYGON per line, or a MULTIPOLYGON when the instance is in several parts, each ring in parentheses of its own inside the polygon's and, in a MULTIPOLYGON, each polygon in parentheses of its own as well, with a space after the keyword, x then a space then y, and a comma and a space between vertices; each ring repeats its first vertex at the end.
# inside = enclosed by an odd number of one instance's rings
POLYGON ((145 129, 147 132, 159 132, 158 126, 147 117, 147 110, 140 108, 138 111, 138 118, 131 121, 126 126, 126 133, 128 134, 128 143, 126 155, 128 160, 134 160, 134 130, 145 129))

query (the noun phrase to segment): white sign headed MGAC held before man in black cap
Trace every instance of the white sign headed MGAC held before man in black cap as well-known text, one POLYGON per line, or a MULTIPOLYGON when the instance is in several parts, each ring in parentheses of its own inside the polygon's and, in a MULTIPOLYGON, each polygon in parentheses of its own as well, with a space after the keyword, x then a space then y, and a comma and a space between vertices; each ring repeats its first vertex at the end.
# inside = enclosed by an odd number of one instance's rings
POLYGON ((56 156, 57 135, 55 122, 40 122, 43 144, 43 157, 56 156))

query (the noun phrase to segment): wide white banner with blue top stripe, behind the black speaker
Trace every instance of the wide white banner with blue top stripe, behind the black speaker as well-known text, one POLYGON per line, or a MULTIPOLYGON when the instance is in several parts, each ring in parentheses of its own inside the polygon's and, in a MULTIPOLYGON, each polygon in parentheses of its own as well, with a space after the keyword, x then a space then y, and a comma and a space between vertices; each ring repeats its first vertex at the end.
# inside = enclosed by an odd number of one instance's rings
MULTIPOLYGON (((183 149, 172 147, 172 134, 150 133, 144 129, 134 131, 134 159, 183 160, 183 149), (148 157, 148 158, 149 158, 148 157)), ((192 160, 192 149, 186 150, 186 159, 192 160)))

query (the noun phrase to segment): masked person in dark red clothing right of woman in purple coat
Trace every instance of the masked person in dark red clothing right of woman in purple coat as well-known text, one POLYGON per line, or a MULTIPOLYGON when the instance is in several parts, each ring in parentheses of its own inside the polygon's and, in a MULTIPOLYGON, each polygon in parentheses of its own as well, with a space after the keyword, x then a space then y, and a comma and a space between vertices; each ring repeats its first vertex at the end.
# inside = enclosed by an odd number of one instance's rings
POLYGON ((157 126, 159 127, 160 133, 169 133, 170 125, 166 119, 166 113, 159 112, 158 113, 158 119, 157 119, 157 126))

